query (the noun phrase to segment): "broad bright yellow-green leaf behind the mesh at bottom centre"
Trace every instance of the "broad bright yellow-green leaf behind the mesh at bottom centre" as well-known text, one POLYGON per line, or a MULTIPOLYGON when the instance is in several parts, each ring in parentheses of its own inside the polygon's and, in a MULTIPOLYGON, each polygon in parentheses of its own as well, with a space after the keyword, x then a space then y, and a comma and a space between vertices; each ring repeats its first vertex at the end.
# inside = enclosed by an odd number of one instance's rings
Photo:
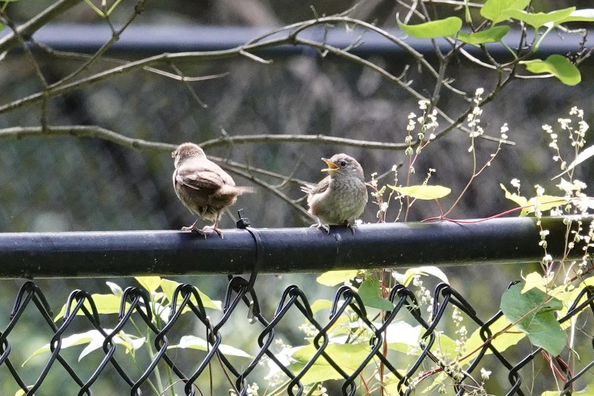
MULTIPOLYGON (((313 345, 297 349, 291 355, 294 360, 289 366, 289 369, 293 373, 298 373, 314 356, 316 351, 313 345)), ((326 351, 334 362, 339 362, 343 370, 353 372, 369 354, 369 346, 365 344, 328 344, 324 351, 326 351)), ((318 381, 341 378, 342 376, 330 366, 330 363, 323 356, 320 356, 315 360, 307 373, 305 373, 301 382, 304 385, 309 385, 318 381)))

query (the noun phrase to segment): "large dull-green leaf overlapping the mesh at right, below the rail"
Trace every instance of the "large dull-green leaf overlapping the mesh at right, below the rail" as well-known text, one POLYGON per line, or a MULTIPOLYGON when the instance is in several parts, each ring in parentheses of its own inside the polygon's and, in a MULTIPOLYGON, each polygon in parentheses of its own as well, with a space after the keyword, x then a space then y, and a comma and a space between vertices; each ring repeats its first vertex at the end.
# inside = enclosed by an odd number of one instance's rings
POLYGON ((546 350, 552 356, 561 353, 567 341, 555 312, 563 303, 539 289, 522 293, 522 284, 514 284, 501 296, 501 310, 508 321, 525 332, 530 342, 546 350))

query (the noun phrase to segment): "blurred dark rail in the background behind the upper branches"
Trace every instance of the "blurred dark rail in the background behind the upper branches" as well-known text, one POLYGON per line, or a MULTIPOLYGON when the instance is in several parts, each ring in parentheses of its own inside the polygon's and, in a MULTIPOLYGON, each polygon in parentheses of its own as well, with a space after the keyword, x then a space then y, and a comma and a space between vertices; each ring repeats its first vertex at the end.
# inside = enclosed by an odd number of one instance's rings
MULTIPOLYGON (((226 50, 244 45, 249 40, 275 29, 276 27, 204 26, 200 24, 181 26, 134 24, 121 34, 119 40, 113 44, 110 50, 128 54, 226 50)), ((402 31, 396 28, 386 28, 386 31, 396 37, 405 37, 402 31)), ((274 34, 269 38, 286 36, 288 33, 290 30, 274 34)), ((0 32, 0 42, 5 40, 5 36, 11 34, 10 29, 4 29, 0 32)), ((39 28, 33 37, 38 42, 56 50, 91 53, 103 46, 111 38, 111 35, 112 32, 107 24, 56 23, 39 28)), ((386 55, 405 58, 410 55, 405 49, 381 34, 375 31, 365 31, 362 28, 350 31, 333 28, 325 31, 323 26, 314 26, 302 31, 299 36, 340 48, 349 47, 353 42, 359 41, 358 45, 349 51, 357 55, 386 55), (358 40, 359 37, 361 40, 358 40)), ((546 56, 551 53, 576 52, 579 50, 581 40, 580 34, 565 34, 563 37, 549 34, 549 37, 539 47, 538 54, 546 56)), ((520 31, 511 31, 505 36, 505 43, 509 46, 516 46, 519 42, 520 31)), ((435 49, 430 40, 407 37, 406 43, 422 53, 423 56, 435 56, 435 49)), ((451 49, 451 45, 445 40, 438 39, 437 43, 441 50, 451 49)), ((508 50, 500 43, 488 44, 487 47, 492 56, 509 56, 508 50)), ((15 48, 18 49, 18 46, 15 48)), ((482 57, 482 51, 478 48, 466 46, 465 49, 475 56, 482 57)), ((317 54, 315 50, 295 45, 276 46, 267 49, 266 52, 276 55, 317 54)))

